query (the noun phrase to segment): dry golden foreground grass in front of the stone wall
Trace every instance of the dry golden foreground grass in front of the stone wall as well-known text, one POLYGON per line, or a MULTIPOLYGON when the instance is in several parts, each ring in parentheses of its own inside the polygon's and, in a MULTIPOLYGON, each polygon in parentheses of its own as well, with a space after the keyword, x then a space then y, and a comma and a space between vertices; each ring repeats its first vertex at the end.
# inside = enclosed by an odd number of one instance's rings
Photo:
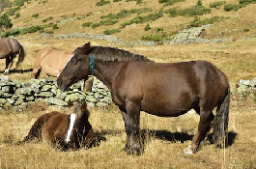
MULTIPOLYGON (((44 106, 44 105, 43 105, 44 106)), ((42 107, 43 107, 42 106, 42 107)), ((142 141, 145 153, 126 155, 124 122, 117 107, 91 109, 90 122, 99 146, 88 150, 60 152, 45 143, 14 145, 21 140, 36 118, 49 110, 0 114, 0 168, 253 168, 256 166, 253 146, 256 143, 254 119, 256 104, 246 103, 230 110, 230 139, 223 150, 204 145, 195 155, 184 155, 196 131, 198 116, 194 113, 178 118, 159 118, 141 113, 142 141), (236 135, 237 134, 237 135, 236 135)))

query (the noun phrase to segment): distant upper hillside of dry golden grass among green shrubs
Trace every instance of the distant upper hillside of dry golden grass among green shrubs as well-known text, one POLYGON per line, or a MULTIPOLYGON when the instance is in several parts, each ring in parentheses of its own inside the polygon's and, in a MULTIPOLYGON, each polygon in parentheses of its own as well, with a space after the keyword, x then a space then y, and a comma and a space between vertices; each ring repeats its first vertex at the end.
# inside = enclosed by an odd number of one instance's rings
MULTIPOLYGON (((218 2, 216 0, 202 1, 202 6, 211 10, 210 14, 188 14, 171 17, 170 9, 194 9, 197 5, 197 0, 172 1, 174 5, 171 6, 150 0, 143 0, 140 3, 134 0, 118 2, 111 0, 109 4, 102 6, 96 5, 97 1, 29 1, 21 7, 19 12, 16 12, 20 15, 19 17, 14 18, 13 16, 13 23, 14 28, 57 24, 59 29, 52 30, 54 34, 71 34, 74 32, 103 34, 105 30, 118 29, 120 33, 115 33, 115 36, 126 41, 138 41, 142 36, 160 34, 157 32, 157 28, 165 36, 175 34, 177 31, 187 28, 194 17, 197 16, 199 20, 205 20, 206 18, 216 20, 213 27, 207 30, 206 38, 242 39, 242 37, 251 38, 256 34, 255 4, 246 5, 238 11, 224 11, 224 5, 209 8, 211 4, 218 2), (136 12, 136 10, 140 10, 140 12, 136 12), (113 16, 114 14, 119 14, 119 17, 113 16), (136 16, 148 16, 149 14, 162 15, 157 17, 156 20, 149 21, 137 20, 136 22, 133 19, 136 16), (106 17, 107 15, 109 17, 106 17), (132 19, 135 23, 128 24, 125 27, 122 26, 122 24, 124 25, 132 19), (91 26, 83 27, 83 23, 91 23, 91 26), (101 25, 98 26, 97 23, 101 25), (144 30, 146 24, 150 25, 151 29, 149 31, 144 30)), ((238 0, 225 2, 232 5, 239 4, 238 0)))

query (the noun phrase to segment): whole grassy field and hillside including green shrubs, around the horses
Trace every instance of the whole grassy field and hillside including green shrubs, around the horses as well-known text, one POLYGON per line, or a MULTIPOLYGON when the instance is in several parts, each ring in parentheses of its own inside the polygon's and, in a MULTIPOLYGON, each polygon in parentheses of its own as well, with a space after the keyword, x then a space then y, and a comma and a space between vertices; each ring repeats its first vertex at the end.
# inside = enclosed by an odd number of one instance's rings
MULTIPOLYGON (((8 74, 12 80, 30 79, 36 55, 44 46, 73 50, 91 42, 126 49, 159 63, 207 60, 227 74, 232 91, 230 146, 215 148, 211 131, 206 145, 195 155, 182 152, 197 129, 199 116, 195 113, 160 118, 142 112, 145 153, 129 156, 121 151, 126 144, 126 132, 115 105, 90 108, 90 123, 100 140, 98 146, 65 153, 44 143, 14 144, 41 114, 52 110, 45 102, 31 103, 23 112, 6 107, 0 109, 0 168, 256 167, 256 101, 246 96, 240 99, 233 92, 240 79, 256 77, 255 0, 2 0, 0 8, 0 23, 5 25, 2 37, 14 36, 26 50, 24 62, 8 74), (185 28, 207 24, 213 25, 205 30, 204 39, 233 41, 161 43, 185 28), (57 36, 74 34, 105 34, 124 42, 156 41, 157 45, 57 36)), ((4 75, 4 68, 5 60, 1 59, 0 75, 4 75)))

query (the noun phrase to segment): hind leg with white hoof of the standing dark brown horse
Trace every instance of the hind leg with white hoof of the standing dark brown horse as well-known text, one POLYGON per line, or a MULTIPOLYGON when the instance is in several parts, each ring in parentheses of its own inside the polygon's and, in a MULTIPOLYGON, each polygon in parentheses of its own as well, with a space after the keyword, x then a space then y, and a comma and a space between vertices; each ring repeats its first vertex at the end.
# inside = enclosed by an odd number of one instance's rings
POLYGON ((201 141, 204 140, 204 138, 206 137, 206 134, 209 132, 211 128, 213 119, 214 119, 214 115, 212 110, 200 111, 200 121, 198 125, 198 131, 193 137, 191 145, 185 149, 184 151, 185 154, 194 154, 196 151, 198 151, 201 141))

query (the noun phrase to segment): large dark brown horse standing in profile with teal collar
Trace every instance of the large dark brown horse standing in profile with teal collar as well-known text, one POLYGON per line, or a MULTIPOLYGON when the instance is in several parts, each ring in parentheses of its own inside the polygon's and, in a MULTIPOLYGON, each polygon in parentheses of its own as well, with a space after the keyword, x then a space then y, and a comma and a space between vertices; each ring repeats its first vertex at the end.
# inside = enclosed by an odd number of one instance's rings
POLYGON ((225 147, 228 129, 230 86, 227 76, 207 61, 155 63, 128 51, 90 42, 73 51, 57 77, 61 90, 93 74, 110 90, 125 121, 128 154, 139 155, 140 111, 177 117, 194 109, 200 115, 198 131, 185 154, 193 154, 213 122, 213 142, 225 147), (213 115, 213 108, 216 114, 213 115))

